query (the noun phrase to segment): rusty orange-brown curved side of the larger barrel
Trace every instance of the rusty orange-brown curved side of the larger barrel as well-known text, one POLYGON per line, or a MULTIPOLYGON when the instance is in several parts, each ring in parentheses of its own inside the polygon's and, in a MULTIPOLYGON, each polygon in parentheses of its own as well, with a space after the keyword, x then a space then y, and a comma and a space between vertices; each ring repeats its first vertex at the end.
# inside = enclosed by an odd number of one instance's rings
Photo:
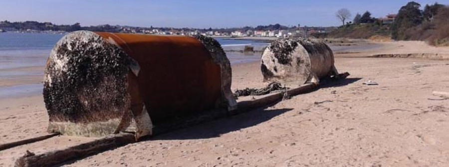
POLYGON ((154 124, 182 112, 213 108, 219 99, 220 66, 196 38, 96 33, 117 42, 139 63, 139 93, 154 124))

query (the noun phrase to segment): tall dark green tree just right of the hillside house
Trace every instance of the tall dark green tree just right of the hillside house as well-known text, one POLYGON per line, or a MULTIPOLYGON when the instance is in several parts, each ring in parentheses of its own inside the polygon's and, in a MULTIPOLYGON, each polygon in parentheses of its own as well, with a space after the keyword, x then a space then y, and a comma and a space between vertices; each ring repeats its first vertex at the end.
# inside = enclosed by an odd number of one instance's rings
POLYGON ((407 3, 399 9, 398 16, 392 25, 392 38, 395 40, 407 40, 409 28, 415 27, 423 22, 421 4, 415 1, 407 3))

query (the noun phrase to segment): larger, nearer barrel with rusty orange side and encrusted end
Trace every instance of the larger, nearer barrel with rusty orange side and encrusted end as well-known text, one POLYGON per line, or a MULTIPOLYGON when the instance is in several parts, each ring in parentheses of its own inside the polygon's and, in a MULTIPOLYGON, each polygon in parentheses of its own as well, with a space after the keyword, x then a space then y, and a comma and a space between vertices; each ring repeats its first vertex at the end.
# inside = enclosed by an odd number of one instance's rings
POLYGON ((48 131, 151 135, 153 124, 235 108, 230 84, 229 60, 209 37, 72 32, 45 68, 48 131))

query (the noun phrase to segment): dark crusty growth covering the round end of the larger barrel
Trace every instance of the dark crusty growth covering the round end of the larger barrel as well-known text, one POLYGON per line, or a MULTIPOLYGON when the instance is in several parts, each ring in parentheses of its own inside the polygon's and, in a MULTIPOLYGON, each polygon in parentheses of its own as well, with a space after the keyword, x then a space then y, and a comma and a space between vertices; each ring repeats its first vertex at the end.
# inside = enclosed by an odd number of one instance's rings
MULTIPOLYGON (((92 117, 89 112, 110 109, 111 113, 106 114, 113 115, 115 107, 125 104, 129 63, 125 52, 99 36, 86 42, 79 39, 63 42, 55 51, 54 59, 67 59, 67 62, 66 70, 56 70, 56 62, 50 61, 45 72, 51 76, 51 83, 45 82, 43 89, 50 119, 57 116, 57 119, 82 122, 92 117), (105 85, 105 78, 113 82, 105 85), (99 87, 100 83, 103 85, 99 87), (94 104, 83 104, 85 101, 94 104)), ((105 121, 107 117, 95 119, 105 121)))

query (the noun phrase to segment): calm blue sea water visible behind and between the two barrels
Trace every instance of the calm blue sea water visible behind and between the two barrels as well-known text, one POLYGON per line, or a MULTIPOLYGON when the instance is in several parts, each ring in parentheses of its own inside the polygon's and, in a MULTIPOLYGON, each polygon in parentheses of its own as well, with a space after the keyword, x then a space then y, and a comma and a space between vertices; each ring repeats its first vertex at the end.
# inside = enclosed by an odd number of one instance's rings
MULTIPOLYGON (((43 66, 50 54, 50 50, 63 35, 48 33, 0 33, 0 81, 2 79, 25 80, 25 76, 42 76, 43 78, 43 66), (35 70, 41 68, 42 70, 35 70)), ((244 45, 254 45, 255 47, 267 45, 267 43, 250 40, 217 40, 223 45, 225 50, 244 47, 244 45)), ((258 61, 260 59, 259 54, 243 55, 239 52, 227 52, 227 55, 231 64, 258 61)), ((41 93, 41 90, 41 83, 0 86, 0 98, 31 95, 41 93)))

